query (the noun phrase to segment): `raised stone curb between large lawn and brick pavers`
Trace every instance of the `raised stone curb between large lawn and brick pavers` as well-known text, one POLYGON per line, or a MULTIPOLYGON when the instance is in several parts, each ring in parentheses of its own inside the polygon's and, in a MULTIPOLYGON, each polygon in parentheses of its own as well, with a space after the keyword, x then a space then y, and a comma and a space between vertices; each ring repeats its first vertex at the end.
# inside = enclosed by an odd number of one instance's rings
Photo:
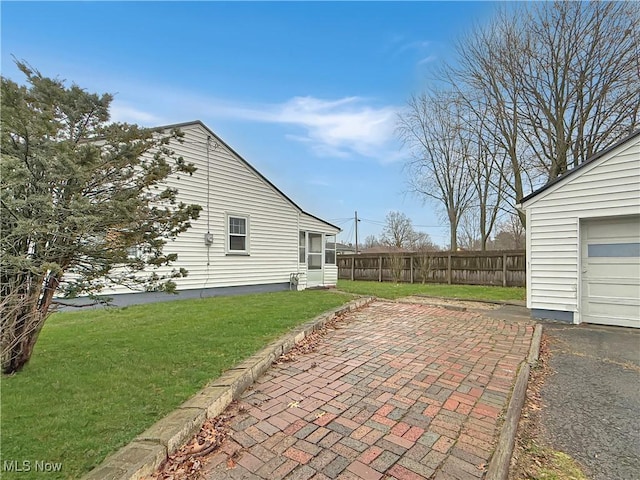
POLYGON ((324 312, 299 325, 278 340, 225 371, 176 410, 138 435, 131 443, 109 455, 82 480, 142 480, 153 474, 195 435, 208 418, 215 418, 240 397, 273 362, 327 322, 373 302, 361 297, 324 312))

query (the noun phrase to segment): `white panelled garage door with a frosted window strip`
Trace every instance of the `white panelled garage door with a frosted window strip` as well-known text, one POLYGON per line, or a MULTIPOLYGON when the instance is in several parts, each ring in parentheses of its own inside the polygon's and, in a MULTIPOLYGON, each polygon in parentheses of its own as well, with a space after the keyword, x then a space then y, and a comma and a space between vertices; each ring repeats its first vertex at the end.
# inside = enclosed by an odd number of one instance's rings
POLYGON ((640 328, 640 217, 582 223, 582 321, 640 328))

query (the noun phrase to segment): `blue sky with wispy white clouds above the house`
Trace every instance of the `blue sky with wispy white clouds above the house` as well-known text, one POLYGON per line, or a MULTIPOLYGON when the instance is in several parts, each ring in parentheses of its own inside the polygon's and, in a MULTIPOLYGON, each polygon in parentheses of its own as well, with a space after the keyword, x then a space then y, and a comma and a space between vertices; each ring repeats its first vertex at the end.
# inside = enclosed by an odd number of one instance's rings
POLYGON ((398 112, 487 21, 489 2, 6 2, 12 56, 115 94, 114 120, 202 120, 304 210, 353 242, 398 210, 446 245, 438 206, 406 193, 398 112))

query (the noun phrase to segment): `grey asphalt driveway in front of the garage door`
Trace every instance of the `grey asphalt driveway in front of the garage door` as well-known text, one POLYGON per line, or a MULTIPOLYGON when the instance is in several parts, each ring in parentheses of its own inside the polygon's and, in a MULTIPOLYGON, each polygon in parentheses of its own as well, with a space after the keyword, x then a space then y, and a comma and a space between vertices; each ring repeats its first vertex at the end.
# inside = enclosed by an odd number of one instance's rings
POLYGON ((593 480, 640 478, 640 331, 545 324, 542 434, 593 480))

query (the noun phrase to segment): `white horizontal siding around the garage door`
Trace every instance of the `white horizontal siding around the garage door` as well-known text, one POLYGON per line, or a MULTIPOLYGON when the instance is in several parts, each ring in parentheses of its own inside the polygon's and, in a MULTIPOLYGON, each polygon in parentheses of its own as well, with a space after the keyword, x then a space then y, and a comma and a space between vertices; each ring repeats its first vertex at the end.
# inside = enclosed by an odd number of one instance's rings
POLYGON ((527 213, 527 306, 580 322, 582 219, 640 213, 640 137, 621 144, 522 205, 527 213))

